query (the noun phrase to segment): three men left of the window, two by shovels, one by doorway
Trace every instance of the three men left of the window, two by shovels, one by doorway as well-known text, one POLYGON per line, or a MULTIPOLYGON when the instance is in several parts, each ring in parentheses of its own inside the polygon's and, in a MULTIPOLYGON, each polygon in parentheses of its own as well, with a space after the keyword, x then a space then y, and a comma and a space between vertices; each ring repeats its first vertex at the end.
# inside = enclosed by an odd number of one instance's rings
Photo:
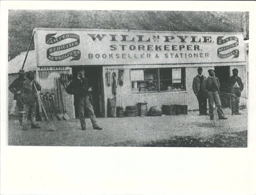
MULTIPOLYGON (((36 106, 37 106, 37 91, 41 91, 40 84, 35 80, 33 71, 27 73, 25 78, 25 71, 19 71, 19 77, 15 79, 9 86, 9 90, 14 94, 16 105, 19 110, 19 122, 23 130, 27 128, 27 118, 30 110, 31 113, 31 128, 38 129, 40 126, 36 124, 36 106)), ((84 71, 79 71, 77 78, 74 78, 67 86, 67 93, 74 94, 78 97, 79 119, 82 130, 86 129, 84 109, 86 108, 91 119, 93 129, 102 130, 97 125, 96 117, 93 110, 93 103, 91 97, 92 84, 89 79, 84 77, 84 71)))

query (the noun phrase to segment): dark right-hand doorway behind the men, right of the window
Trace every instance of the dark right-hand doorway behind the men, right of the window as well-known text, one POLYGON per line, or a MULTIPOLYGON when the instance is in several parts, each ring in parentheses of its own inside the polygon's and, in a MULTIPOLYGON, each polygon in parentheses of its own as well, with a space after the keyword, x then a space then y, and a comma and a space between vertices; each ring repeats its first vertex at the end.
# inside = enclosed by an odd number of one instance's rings
POLYGON ((228 93, 228 78, 230 77, 230 66, 214 66, 215 77, 219 79, 219 92, 222 107, 230 107, 230 99, 224 93, 228 93))

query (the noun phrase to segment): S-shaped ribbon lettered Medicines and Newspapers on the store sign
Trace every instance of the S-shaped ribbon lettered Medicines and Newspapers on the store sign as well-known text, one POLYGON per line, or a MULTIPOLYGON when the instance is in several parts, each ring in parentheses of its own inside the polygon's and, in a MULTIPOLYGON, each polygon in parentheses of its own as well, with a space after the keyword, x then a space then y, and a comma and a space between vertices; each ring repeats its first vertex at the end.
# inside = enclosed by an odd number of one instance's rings
POLYGON ((68 57, 73 57, 72 59, 70 59, 70 61, 79 60, 81 57, 81 52, 78 49, 69 51, 62 55, 57 55, 57 56, 51 55, 51 53, 53 53, 53 52, 62 51, 62 50, 68 49, 68 48, 72 48, 72 47, 79 45, 79 43, 80 43, 79 35, 77 35, 77 34, 68 33, 68 34, 63 34, 58 37, 54 37, 54 35, 56 35, 56 34, 57 33, 47 34, 45 37, 46 44, 50 45, 50 44, 58 43, 67 38, 74 38, 74 39, 76 39, 76 41, 48 48, 47 52, 46 52, 47 59, 49 59, 51 61, 61 61, 68 57))

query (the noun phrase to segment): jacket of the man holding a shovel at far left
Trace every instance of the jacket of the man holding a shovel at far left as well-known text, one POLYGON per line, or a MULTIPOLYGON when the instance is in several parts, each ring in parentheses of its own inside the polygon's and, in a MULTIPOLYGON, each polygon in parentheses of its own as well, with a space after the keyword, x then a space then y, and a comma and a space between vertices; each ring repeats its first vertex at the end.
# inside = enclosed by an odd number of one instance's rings
POLYGON ((24 104, 32 104, 35 101, 37 101, 37 99, 38 99, 37 91, 41 91, 41 86, 35 80, 31 81, 29 79, 26 79, 23 82, 23 87, 22 87, 21 91, 22 91, 23 103, 24 104), (35 86, 33 83, 35 83, 37 89, 35 89, 35 86))

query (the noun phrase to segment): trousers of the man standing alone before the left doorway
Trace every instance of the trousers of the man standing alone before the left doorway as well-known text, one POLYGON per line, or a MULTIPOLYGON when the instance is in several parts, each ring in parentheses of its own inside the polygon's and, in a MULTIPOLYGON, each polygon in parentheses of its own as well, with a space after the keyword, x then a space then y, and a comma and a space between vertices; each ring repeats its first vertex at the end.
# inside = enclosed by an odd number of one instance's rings
POLYGON ((85 96, 85 97, 79 97, 79 102, 78 102, 79 120, 80 120, 81 127, 86 127, 85 117, 84 117, 84 107, 88 112, 92 126, 93 127, 97 126, 96 116, 94 114, 92 103, 90 101, 90 96, 85 96))

